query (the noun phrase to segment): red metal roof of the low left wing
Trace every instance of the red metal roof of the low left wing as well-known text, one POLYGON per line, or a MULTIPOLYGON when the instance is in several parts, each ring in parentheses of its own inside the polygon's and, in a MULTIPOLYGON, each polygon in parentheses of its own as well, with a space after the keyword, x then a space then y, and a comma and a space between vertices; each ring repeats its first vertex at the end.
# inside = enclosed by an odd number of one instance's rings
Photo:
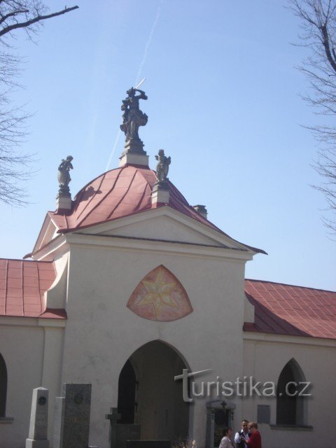
POLYGON ((55 278, 53 262, 0 259, 0 316, 66 318, 64 309, 45 308, 55 278))

